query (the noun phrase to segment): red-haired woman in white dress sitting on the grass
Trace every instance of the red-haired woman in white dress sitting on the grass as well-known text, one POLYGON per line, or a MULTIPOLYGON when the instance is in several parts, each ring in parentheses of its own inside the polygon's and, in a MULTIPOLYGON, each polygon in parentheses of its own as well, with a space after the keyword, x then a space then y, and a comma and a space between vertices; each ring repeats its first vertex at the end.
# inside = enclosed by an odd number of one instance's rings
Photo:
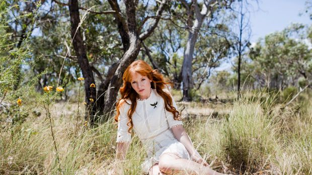
POLYGON ((221 174, 208 167, 183 128, 180 113, 163 75, 142 60, 134 61, 123 74, 117 102, 116 159, 124 159, 133 129, 147 151, 142 163, 146 174, 186 170, 221 174))

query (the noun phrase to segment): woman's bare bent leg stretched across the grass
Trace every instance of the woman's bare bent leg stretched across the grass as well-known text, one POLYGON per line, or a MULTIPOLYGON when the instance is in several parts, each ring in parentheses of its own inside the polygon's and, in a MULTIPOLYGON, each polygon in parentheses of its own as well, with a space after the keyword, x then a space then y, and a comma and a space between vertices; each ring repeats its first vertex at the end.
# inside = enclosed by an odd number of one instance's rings
POLYGON ((187 171, 191 174, 203 174, 203 175, 221 175, 208 166, 201 165, 195 161, 180 158, 175 154, 165 153, 160 157, 159 169, 166 173, 177 173, 187 171))

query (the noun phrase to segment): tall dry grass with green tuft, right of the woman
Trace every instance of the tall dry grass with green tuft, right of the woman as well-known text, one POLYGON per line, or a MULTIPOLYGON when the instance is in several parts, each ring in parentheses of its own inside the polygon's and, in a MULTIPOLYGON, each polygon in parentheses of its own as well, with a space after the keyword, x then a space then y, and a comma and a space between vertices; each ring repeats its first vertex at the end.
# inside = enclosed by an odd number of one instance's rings
POLYGON ((191 120, 188 132, 223 172, 312 174, 311 102, 284 108, 274 99, 274 93, 243 96, 221 107, 228 114, 191 120))

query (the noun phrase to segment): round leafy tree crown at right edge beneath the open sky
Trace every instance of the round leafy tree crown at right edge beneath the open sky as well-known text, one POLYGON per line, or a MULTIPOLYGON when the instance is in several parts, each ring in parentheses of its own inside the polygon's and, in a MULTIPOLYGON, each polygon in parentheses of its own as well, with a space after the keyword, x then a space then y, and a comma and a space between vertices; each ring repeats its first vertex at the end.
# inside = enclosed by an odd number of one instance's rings
POLYGON ((256 78, 264 82, 262 86, 275 89, 297 86, 300 77, 311 82, 312 50, 306 43, 307 33, 306 26, 293 24, 265 36, 252 47, 250 64, 261 70, 256 78))

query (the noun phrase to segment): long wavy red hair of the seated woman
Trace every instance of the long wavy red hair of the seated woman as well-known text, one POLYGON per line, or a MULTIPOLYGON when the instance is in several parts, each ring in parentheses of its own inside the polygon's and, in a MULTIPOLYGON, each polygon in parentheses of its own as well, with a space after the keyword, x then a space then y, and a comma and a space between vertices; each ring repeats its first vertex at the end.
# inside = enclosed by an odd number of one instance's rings
POLYGON ((165 108, 167 111, 173 113, 173 117, 175 120, 179 119, 180 112, 173 106, 171 95, 165 92, 163 89, 168 87, 169 85, 172 85, 172 83, 168 80, 166 80, 157 69, 152 69, 150 65, 148 65, 143 60, 137 60, 131 63, 127 69, 125 70, 122 80, 123 85, 120 88, 120 94, 121 98, 118 100, 116 104, 117 112, 115 115, 115 121, 118 122, 118 117, 120 115, 119 109, 124 104, 127 103, 127 99, 131 101, 130 109, 127 112, 129 121, 127 125, 129 126, 128 132, 131 133, 131 129, 133 127, 132 123, 132 115, 136 108, 136 99, 138 98, 138 94, 135 92, 135 90, 131 86, 131 72, 137 72, 141 74, 142 76, 147 76, 150 82, 150 86, 152 89, 156 89, 157 93, 163 97, 165 101, 165 108))

